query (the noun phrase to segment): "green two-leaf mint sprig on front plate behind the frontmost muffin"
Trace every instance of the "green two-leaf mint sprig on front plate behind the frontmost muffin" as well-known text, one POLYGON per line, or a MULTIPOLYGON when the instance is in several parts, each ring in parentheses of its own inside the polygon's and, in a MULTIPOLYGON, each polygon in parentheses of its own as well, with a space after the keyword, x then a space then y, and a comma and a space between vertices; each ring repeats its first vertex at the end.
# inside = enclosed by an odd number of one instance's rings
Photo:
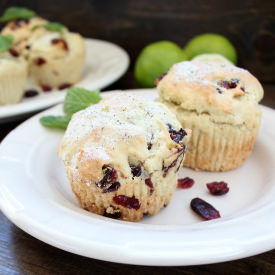
POLYGON ((90 91, 84 88, 71 87, 68 89, 64 104, 64 116, 43 116, 40 123, 49 128, 66 129, 74 113, 96 104, 101 100, 99 91, 90 91))

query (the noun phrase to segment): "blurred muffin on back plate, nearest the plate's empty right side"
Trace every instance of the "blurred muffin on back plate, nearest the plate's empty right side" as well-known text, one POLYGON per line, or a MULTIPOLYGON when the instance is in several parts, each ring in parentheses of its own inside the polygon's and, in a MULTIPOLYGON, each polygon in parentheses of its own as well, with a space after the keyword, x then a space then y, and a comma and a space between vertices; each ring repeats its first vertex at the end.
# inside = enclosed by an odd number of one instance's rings
POLYGON ((62 32, 36 29, 28 41, 30 75, 40 85, 62 88, 78 82, 85 61, 82 36, 64 28, 62 32))

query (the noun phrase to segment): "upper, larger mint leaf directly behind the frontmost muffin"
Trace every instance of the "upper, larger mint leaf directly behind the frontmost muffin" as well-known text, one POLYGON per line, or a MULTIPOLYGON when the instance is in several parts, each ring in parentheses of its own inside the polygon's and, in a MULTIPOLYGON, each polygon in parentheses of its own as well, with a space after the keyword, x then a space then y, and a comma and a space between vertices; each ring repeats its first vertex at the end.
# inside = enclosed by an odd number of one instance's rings
POLYGON ((89 91, 84 88, 71 87, 68 89, 63 105, 63 111, 72 115, 101 100, 99 91, 89 91))

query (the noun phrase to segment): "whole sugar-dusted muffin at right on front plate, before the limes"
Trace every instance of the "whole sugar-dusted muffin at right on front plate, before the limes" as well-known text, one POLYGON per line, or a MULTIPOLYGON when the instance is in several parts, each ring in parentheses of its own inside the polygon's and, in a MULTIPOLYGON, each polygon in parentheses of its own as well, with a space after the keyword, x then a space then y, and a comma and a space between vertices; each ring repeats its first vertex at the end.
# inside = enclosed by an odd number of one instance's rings
POLYGON ((247 70, 220 62, 181 62, 159 79, 157 90, 182 127, 192 130, 184 166, 226 171, 246 160, 263 97, 261 84, 247 70))

